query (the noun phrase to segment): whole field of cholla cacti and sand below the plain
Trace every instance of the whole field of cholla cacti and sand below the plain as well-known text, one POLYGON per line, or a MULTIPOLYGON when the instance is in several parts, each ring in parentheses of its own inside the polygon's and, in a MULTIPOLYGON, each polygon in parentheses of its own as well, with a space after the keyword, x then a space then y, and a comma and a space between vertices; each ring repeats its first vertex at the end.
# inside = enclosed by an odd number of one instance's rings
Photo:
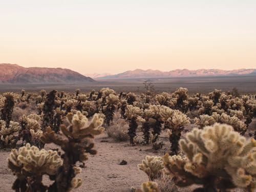
POLYGON ((0 191, 252 192, 255 117, 236 89, 2 92, 0 191))

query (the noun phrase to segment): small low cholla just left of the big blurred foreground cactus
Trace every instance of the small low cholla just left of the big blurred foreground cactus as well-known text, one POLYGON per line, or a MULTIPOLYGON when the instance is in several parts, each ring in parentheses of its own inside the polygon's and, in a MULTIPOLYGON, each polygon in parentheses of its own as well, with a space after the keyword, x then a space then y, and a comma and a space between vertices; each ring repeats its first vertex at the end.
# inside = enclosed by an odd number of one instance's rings
POLYGON ((163 174, 163 161, 158 156, 146 156, 138 168, 145 172, 148 178, 153 181, 163 174))

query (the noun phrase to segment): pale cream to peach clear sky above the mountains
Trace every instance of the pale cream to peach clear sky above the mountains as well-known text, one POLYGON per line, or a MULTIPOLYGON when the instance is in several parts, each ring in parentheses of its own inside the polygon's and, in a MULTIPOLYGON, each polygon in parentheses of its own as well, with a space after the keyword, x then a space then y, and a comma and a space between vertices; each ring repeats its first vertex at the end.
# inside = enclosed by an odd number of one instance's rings
POLYGON ((0 63, 88 73, 256 68, 255 0, 0 0, 0 63))

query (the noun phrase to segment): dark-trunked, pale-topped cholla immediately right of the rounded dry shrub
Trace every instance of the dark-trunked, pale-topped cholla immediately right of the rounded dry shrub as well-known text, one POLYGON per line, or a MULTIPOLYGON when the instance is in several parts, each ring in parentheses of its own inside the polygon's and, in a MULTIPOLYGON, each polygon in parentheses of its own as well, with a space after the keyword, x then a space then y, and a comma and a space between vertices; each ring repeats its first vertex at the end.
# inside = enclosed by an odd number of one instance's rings
POLYGON ((125 109, 125 116, 130 120, 128 135, 130 136, 130 143, 134 144, 134 137, 136 136, 136 130, 138 128, 138 123, 136 122, 137 118, 141 116, 143 109, 138 108, 137 106, 127 105, 125 109))

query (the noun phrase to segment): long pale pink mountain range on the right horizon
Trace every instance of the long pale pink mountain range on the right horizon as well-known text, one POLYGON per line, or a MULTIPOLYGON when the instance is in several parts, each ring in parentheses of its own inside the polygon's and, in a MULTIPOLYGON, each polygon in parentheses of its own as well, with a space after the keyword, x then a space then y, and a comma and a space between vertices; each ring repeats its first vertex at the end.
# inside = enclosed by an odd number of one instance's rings
POLYGON ((163 78, 163 77, 203 77, 203 76, 235 76, 235 75, 255 75, 256 69, 239 69, 239 70, 219 70, 219 69, 200 69, 188 70, 177 69, 168 72, 159 70, 141 70, 125 71, 116 75, 102 76, 100 79, 130 79, 130 78, 163 78))

